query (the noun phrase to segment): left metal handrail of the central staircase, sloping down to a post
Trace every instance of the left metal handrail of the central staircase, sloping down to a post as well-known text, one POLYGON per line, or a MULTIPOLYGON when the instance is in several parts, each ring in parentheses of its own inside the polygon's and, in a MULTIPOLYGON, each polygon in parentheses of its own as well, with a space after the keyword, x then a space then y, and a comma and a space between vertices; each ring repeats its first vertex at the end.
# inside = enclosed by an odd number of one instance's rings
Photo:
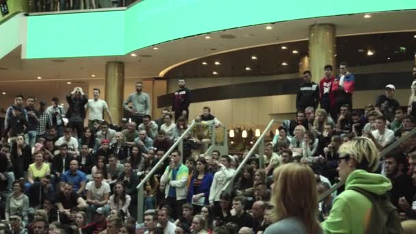
MULTIPOLYGON (((172 153, 172 151, 174 150, 174 148, 176 148, 179 144, 183 145, 183 138, 185 138, 185 136, 190 133, 190 131, 192 131, 192 128, 196 125, 196 122, 192 122, 192 124, 187 127, 187 129, 182 133, 181 137, 178 138, 178 140, 176 142, 174 142, 174 144, 168 149, 168 151, 166 151, 165 155, 163 157, 161 157, 159 159, 159 161, 157 162, 157 164, 152 168, 152 170, 150 172, 148 172, 148 174, 146 175, 146 177, 144 177, 144 179, 142 179, 142 181, 140 181, 139 185, 136 188, 136 190, 138 190, 138 221, 141 222, 143 220, 143 200, 144 200, 144 194, 143 194, 143 186, 144 184, 151 179, 151 177, 153 177, 153 174, 155 174, 156 170, 159 169, 159 167, 161 166, 161 164, 164 163, 166 157, 169 157, 170 153, 172 153)), ((182 149, 179 149, 179 151, 181 151, 181 157, 183 157, 183 152, 182 149)))

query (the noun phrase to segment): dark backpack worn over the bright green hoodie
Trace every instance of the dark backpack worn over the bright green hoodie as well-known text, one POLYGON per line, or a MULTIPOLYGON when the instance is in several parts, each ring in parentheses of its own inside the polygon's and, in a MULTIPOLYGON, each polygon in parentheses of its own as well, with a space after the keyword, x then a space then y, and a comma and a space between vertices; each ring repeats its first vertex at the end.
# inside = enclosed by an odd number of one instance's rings
POLYGON ((372 202, 372 211, 365 233, 368 234, 402 234, 402 224, 400 222, 397 208, 391 204, 389 195, 377 195, 372 192, 361 190, 357 187, 350 188, 363 194, 372 202))

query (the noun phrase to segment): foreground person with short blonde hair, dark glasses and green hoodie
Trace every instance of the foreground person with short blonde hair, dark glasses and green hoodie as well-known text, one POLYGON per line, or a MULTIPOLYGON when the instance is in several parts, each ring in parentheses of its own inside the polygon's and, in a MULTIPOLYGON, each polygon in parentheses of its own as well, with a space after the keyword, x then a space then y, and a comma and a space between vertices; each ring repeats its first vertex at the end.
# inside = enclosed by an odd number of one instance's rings
MULTIPOLYGON (((339 230, 343 233, 382 233, 386 223, 372 217, 373 205, 367 196, 377 197, 384 205, 389 205, 387 192, 392 185, 386 177, 373 173, 379 162, 376 146, 369 138, 354 138, 341 145, 338 160, 339 179, 345 181, 346 188, 335 198, 328 219, 322 222, 322 229, 325 233, 338 233, 339 230)), ((390 213, 390 224, 394 224, 393 230, 402 230, 397 212, 390 213)))

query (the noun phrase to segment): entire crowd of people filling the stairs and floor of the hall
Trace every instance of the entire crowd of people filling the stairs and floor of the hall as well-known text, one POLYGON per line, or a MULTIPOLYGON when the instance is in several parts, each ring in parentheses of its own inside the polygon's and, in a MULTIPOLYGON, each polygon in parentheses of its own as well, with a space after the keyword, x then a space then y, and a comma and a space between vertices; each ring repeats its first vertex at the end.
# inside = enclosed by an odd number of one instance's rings
POLYGON ((189 120, 192 99, 184 79, 172 109, 155 120, 143 84, 135 83, 123 103, 130 120, 120 126, 97 88, 88 99, 76 87, 66 95, 68 108, 56 97, 51 106, 40 101, 36 108, 32 96, 24 107, 16 95, 1 139, 1 228, 110 234, 415 230, 416 138, 379 156, 415 128, 416 67, 413 78, 406 108, 387 84, 361 112, 352 109, 354 75, 346 63, 337 77, 325 66, 319 85, 305 71, 295 120, 283 121, 264 152, 249 156, 205 155, 212 128, 222 124, 209 107, 189 120), (192 122, 198 125, 187 131, 192 122), (164 157, 182 135, 183 148, 164 157), (144 219, 136 220, 136 187, 157 165, 144 185, 144 219), (318 201, 338 181, 345 186, 318 201))

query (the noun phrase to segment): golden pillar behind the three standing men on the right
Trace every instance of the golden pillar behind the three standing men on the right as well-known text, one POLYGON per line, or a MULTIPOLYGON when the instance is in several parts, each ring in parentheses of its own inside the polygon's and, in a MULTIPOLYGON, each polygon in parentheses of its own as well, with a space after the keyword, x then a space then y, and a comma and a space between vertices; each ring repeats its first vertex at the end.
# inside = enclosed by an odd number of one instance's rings
POLYGON ((324 66, 336 68, 336 28, 331 24, 316 24, 309 29, 309 58, 312 80, 319 83, 324 76, 324 66))

